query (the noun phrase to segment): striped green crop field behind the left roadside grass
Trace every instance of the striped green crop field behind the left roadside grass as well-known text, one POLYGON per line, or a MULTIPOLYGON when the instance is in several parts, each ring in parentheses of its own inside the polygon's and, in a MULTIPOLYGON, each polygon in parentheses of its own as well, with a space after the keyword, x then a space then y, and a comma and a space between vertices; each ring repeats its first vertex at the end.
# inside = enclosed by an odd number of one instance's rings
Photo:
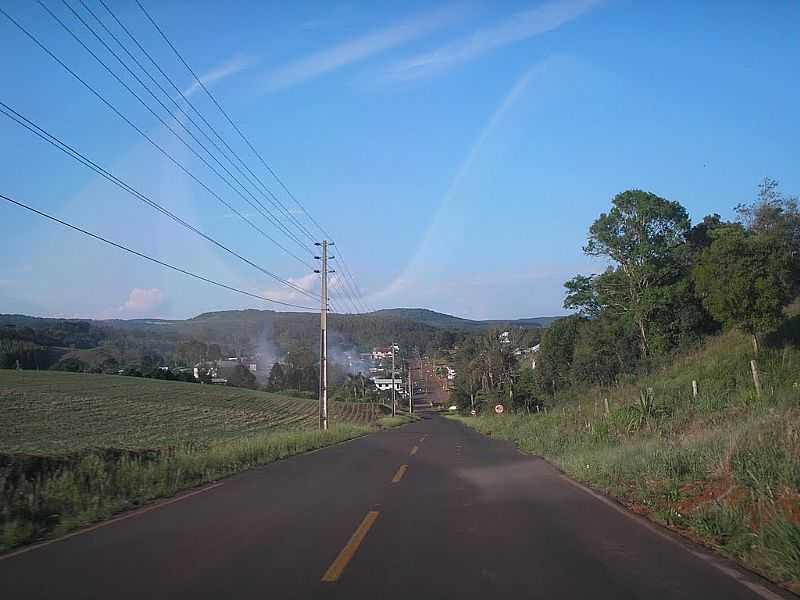
MULTIPOLYGON (((331 425, 369 425, 379 415, 370 404, 330 405, 331 425)), ((139 377, 0 370, 0 452, 158 448, 316 425, 316 400, 139 377)))

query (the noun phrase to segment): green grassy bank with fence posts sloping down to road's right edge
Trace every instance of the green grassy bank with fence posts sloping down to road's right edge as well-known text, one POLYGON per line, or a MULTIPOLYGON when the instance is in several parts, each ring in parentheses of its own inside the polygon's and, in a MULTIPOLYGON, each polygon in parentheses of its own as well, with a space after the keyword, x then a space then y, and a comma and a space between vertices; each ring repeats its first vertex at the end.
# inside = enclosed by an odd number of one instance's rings
POLYGON ((455 418, 798 589, 800 351, 762 350, 760 400, 751 352, 729 333, 646 377, 574 390, 546 416, 455 418))

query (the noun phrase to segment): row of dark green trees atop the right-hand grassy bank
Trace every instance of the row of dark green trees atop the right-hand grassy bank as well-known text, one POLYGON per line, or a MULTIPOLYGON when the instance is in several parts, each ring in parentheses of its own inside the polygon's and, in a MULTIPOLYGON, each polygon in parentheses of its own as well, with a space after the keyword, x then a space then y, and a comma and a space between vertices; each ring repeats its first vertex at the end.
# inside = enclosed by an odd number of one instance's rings
POLYGON ((565 283, 574 314, 551 324, 534 357, 510 361, 490 339, 480 360, 462 356, 462 408, 478 395, 530 410, 571 386, 646 371, 722 329, 749 334, 757 354, 800 291, 800 210, 771 179, 733 220, 695 225, 680 203, 628 190, 592 223, 583 251, 607 267, 565 283))

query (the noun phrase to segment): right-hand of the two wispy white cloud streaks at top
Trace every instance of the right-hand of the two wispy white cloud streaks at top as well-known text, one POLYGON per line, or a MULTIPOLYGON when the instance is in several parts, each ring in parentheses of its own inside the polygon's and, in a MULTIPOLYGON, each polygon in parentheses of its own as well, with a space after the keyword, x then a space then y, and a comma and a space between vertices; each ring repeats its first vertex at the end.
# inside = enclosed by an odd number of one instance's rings
POLYGON ((398 62, 389 67, 386 77, 392 81, 412 81, 428 77, 496 48, 557 29, 582 16, 600 1, 548 2, 536 8, 516 13, 493 27, 476 31, 469 37, 398 62))

